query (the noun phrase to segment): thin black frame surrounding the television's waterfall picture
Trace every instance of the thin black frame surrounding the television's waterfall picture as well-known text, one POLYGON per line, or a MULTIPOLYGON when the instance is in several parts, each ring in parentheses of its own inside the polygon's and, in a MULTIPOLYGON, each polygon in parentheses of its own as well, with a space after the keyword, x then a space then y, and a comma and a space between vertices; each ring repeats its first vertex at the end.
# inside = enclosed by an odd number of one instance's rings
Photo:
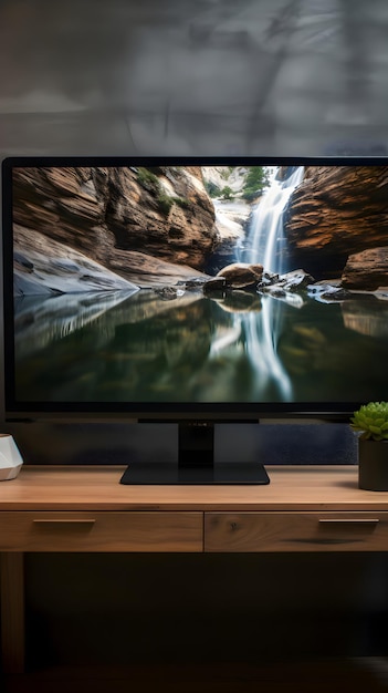
POLYGON ((19 402, 14 387, 12 170, 77 166, 387 166, 386 156, 17 156, 2 161, 2 272, 6 421, 137 420, 348 422, 363 402, 19 402))

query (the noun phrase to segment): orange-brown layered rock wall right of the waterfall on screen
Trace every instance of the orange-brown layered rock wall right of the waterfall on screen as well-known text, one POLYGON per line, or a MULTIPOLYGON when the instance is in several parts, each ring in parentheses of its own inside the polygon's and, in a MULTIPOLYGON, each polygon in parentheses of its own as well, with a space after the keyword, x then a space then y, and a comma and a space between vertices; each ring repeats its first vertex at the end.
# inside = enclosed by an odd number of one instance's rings
POLYGON ((363 252, 371 249, 380 280, 382 266, 387 277, 388 166, 307 167, 290 200, 285 230, 290 265, 316 279, 340 277, 352 257, 344 282, 357 288, 359 277, 353 280, 350 272, 358 263, 360 276, 363 252))

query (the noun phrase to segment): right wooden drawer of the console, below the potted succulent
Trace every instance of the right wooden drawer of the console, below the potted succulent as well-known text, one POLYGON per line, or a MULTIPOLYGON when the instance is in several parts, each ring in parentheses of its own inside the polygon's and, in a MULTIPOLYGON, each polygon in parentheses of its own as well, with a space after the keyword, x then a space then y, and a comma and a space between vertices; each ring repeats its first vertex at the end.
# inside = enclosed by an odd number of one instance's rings
POLYGON ((207 513, 206 551, 387 551, 388 513, 207 513))

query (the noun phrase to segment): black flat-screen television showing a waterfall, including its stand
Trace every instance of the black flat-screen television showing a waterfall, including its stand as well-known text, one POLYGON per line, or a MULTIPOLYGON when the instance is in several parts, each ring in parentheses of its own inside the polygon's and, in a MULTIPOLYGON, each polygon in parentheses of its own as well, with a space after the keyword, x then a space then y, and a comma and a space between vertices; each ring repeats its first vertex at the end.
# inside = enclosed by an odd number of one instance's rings
POLYGON ((268 483, 214 424, 387 399, 388 159, 8 158, 2 204, 6 417, 177 422, 123 483, 268 483))

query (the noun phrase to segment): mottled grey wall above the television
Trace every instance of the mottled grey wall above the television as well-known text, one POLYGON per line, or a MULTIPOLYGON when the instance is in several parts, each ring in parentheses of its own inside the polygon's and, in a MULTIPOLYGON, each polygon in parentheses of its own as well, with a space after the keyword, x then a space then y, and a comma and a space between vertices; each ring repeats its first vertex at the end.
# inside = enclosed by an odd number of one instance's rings
POLYGON ((0 154, 381 153, 385 0, 2 0, 0 154))

